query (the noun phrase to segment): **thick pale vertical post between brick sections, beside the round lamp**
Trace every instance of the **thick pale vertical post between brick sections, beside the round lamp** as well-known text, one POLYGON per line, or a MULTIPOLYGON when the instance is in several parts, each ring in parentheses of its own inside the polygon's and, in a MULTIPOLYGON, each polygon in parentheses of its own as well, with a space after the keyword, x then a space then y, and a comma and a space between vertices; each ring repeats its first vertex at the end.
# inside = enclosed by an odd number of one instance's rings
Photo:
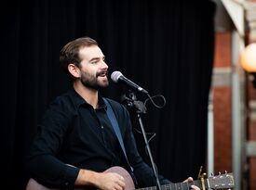
POLYGON ((232 33, 232 160, 235 175, 235 190, 242 189, 242 167, 245 165, 243 150, 245 138, 244 89, 242 73, 239 70, 239 50, 243 41, 237 32, 232 33), (240 71, 240 72, 239 72, 240 71))

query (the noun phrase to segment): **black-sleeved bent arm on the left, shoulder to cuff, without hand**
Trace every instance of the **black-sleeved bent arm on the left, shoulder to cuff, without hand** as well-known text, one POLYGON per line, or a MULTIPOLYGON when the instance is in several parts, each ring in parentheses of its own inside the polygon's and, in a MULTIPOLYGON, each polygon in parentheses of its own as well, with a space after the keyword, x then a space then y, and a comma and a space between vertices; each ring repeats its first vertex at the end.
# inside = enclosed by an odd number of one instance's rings
POLYGON ((61 100, 47 109, 38 125, 29 150, 27 170, 42 184, 66 186, 74 184, 79 169, 63 163, 57 155, 70 126, 72 115, 64 112, 61 100))

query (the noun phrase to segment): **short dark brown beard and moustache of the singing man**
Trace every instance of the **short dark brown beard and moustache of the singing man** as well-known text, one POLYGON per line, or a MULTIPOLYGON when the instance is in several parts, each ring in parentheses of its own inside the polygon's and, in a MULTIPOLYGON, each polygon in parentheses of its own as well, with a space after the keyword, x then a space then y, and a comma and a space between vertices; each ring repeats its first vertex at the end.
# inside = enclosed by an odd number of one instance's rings
POLYGON ((85 87, 100 90, 109 85, 107 78, 107 70, 101 70, 96 73, 96 75, 89 74, 88 72, 82 72, 80 81, 85 87), (106 76, 106 79, 101 80, 101 77, 106 76))

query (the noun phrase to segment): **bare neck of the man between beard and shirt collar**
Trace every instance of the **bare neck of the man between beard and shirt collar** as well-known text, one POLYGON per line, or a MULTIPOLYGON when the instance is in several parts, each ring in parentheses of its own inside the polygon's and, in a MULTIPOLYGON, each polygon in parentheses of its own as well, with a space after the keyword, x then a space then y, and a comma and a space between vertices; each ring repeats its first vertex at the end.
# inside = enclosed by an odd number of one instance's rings
POLYGON ((84 86, 81 82, 73 83, 76 93, 81 95, 94 109, 98 107, 98 90, 84 86))

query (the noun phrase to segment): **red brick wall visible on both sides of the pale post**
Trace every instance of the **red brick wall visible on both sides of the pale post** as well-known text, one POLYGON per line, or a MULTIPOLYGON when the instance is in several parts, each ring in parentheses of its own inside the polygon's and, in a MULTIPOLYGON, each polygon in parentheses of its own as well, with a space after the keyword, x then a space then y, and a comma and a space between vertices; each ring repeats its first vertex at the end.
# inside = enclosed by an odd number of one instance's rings
MULTIPOLYGON (((231 68, 231 34, 230 32, 216 32, 215 36, 214 70, 232 70, 231 68)), ((230 73, 222 72, 219 83, 212 86, 214 113, 214 171, 232 171, 232 105, 230 73), (225 76, 224 75, 229 75, 225 76), (224 79, 224 80, 222 80, 224 79)), ((249 81, 247 74, 247 140, 256 141, 256 89, 249 81), (251 106, 252 105, 252 106, 251 106)), ((244 166, 243 166, 244 167, 244 166)), ((248 176, 245 177, 247 190, 256 189, 256 158, 248 158, 248 176)), ((241 179, 244 181, 243 179, 241 179)))

